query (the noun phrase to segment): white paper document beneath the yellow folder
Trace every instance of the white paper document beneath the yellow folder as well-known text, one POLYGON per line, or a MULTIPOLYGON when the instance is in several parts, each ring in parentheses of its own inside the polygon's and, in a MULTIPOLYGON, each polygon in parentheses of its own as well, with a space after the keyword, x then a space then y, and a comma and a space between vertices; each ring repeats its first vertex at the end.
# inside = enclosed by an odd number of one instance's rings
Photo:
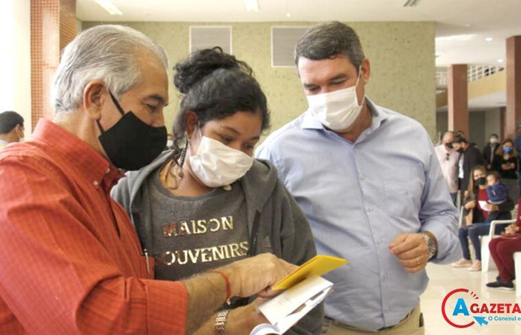
POLYGON ((250 335, 283 334, 320 304, 332 286, 332 282, 314 276, 264 302, 259 306, 259 311, 270 324, 257 325, 250 335))

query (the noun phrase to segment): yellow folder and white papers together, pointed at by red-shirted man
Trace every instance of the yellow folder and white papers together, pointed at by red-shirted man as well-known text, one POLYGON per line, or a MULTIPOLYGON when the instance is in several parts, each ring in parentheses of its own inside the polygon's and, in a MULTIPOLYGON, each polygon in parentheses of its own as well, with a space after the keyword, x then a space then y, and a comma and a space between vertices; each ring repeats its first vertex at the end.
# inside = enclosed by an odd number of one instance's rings
POLYGON ((290 329, 331 291, 333 283, 320 276, 346 263, 344 258, 318 255, 277 282, 272 289, 286 291, 259 305, 270 323, 257 325, 251 335, 283 334, 290 329))

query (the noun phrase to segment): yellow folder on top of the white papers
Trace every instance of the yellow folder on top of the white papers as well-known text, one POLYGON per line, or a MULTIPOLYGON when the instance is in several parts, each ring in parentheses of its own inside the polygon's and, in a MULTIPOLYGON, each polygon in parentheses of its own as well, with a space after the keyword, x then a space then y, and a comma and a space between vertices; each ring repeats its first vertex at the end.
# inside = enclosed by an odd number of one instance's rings
POLYGON ((322 276, 324 273, 328 273, 347 263, 344 258, 338 258, 326 255, 317 255, 306 263, 295 269, 288 276, 285 276, 277 284, 272 286, 273 290, 285 290, 291 286, 298 284, 302 280, 311 276, 322 276))

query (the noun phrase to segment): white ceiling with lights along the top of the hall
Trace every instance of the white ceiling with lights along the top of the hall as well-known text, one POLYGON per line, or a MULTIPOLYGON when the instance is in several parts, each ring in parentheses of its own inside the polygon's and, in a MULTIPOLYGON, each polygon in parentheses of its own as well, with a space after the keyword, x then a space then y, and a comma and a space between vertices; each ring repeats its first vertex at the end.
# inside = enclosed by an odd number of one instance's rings
POLYGON ((403 8, 405 0, 258 1, 259 12, 246 12, 243 0, 112 0, 123 15, 111 16, 94 0, 77 0, 77 17, 81 21, 435 21, 437 66, 498 64, 497 59, 505 59, 505 39, 521 35, 521 0, 420 0, 412 8, 403 8), (485 42, 487 37, 492 42, 485 42))

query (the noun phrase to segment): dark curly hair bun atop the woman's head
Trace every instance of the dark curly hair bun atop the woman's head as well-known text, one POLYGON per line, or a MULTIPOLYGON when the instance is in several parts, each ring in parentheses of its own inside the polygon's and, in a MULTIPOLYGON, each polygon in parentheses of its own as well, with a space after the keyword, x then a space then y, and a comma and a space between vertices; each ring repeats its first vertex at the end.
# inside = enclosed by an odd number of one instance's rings
POLYGON ((190 88, 215 70, 237 69, 252 74, 251 68, 235 56, 223 52, 219 46, 195 51, 183 62, 175 64, 174 85, 179 92, 186 94, 190 88))

